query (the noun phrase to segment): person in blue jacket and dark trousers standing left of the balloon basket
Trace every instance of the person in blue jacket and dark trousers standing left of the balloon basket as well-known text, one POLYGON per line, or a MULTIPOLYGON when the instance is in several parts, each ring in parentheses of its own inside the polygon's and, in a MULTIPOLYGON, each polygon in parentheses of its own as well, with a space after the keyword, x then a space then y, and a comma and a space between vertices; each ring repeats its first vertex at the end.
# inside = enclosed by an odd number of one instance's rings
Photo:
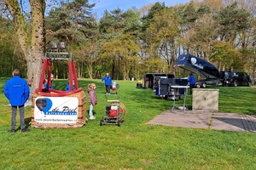
POLYGON ((22 133, 26 133, 29 129, 25 126, 24 117, 24 104, 29 98, 29 87, 25 79, 20 78, 20 71, 15 69, 13 71, 13 78, 9 79, 4 85, 3 93, 12 107, 12 123, 10 133, 15 133, 16 131, 16 114, 17 108, 20 110, 20 129, 22 133))

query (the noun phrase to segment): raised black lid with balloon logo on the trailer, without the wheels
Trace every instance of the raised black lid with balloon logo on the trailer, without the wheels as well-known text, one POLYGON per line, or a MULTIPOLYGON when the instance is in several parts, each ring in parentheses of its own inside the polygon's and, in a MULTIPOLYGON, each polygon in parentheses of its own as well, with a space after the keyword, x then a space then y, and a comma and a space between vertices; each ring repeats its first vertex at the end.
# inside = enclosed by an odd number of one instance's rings
POLYGON ((218 78, 218 68, 205 59, 195 57, 190 54, 182 54, 178 57, 177 63, 174 66, 179 66, 184 70, 194 72, 196 75, 205 78, 218 78))

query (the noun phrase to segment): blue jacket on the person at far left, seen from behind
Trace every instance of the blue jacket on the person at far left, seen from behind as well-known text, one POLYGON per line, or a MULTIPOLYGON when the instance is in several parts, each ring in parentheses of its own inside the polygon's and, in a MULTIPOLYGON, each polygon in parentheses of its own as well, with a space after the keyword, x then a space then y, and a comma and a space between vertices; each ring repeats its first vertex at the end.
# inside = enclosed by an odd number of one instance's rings
POLYGON ((4 95, 12 106, 24 105, 29 98, 29 87, 26 80, 15 76, 5 83, 4 95))

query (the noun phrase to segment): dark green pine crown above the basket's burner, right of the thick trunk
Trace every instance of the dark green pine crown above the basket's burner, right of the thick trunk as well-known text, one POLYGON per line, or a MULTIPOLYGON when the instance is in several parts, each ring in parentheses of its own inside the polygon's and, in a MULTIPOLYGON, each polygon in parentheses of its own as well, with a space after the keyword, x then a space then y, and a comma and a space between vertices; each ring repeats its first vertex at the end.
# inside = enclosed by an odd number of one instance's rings
POLYGON ((88 0, 73 0, 52 8, 45 18, 48 41, 57 39, 68 44, 82 44, 95 38, 96 20, 90 13, 94 6, 88 0))

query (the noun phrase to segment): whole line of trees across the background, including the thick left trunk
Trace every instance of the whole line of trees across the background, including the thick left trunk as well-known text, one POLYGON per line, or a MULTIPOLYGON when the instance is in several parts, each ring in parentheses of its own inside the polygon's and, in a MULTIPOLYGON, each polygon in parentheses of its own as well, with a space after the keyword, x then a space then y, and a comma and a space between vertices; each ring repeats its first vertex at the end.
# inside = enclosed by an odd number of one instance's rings
MULTIPOLYGON (((21 7, 25 1, 10 2, 15 1, 1 1, 1 77, 9 77, 14 68, 27 78, 38 75, 40 70, 29 70, 42 65, 50 43, 67 42, 79 77, 101 78, 106 72, 122 80, 140 79, 146 72, 184 77, 188 73, 174 67, 177 57, 194 54, 219 71, 247 71, 255 82, 256 8, 251 0, 106 9, 100 19, 91 12, 96 4, 88 0, 35 0, 32 2, 43 3, 31 3, 28 11, 20 8, 19 15, 15 5, 21 7), (19 23, 17 16, 23 17, 24 23, 19 23), (20 43, 20 38, 25 43, 20 43)), ((67 78, 67 63, 55 62, 52 68, 56 77, 67 78)))

